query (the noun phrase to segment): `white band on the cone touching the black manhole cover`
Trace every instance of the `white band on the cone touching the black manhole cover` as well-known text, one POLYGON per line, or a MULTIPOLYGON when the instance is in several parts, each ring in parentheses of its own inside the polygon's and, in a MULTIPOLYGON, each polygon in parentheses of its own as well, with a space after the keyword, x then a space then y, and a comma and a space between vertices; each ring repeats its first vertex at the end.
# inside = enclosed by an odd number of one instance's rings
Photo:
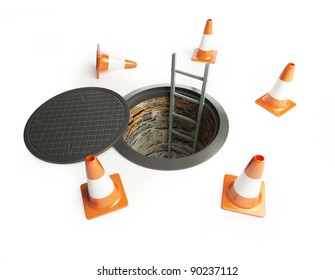
POLYGON ((105 198, 114 190, 114 182, 109 176, 103 175, 97 180, 87 179, 88 194, 95 199, 105 198))

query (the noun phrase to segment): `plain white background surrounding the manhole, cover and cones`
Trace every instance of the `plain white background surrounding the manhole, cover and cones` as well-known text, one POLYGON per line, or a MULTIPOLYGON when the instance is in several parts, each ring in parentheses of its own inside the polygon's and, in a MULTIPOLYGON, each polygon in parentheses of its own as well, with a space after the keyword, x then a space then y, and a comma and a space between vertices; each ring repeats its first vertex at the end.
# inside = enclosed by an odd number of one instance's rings
MULTIPOLYGON (((1 279, 225 279, 102 277, 97 269, 237 266, 232 279, 334 279, 334 9, 332 1, 1 1, 1 279), (120 173, 129 206, 86 220, 84 163, 41 161, 25 147, 29 116, 83 86, 122 96, 168 83, 213 20, 208 93, 230 124, 222 149, 180 171, 135 165, 114 148, 98 158, 120 173), (95 78, 96 44, 136 69, 95 78), (290 99, 277 118, 255 104, 288 62, 290 99), (332 138, 333 137, 333 138, 332 138), (265 157, 266 217, 222 210, 223 176, 265 157), (102 277, 102 278, 101 278, 102 277)), ((189 80, 179 83, 193 85, 189 80)), ((194 85, 196 86, 196 85, 194 85)))

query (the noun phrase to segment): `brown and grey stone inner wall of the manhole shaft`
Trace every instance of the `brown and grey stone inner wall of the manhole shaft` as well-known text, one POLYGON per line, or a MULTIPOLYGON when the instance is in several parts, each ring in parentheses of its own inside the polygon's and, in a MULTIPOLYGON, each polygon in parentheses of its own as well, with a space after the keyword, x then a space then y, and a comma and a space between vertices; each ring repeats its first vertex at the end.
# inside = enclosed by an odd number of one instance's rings
MULTIPOLYGON (((144 100, 130 109, 130 123, 123 134, 125 142, 138 153, 153 158, 168 158, 169 129, 168 96, 144 100)), ((175 112, 196 120, 198 104, 175 98, 175 112)), ((174 130, 193 137, 195 124, 175 118, 174 130)), ((215 138, 217 124, 212 112, 204 107, 196 152, 203 150, 215 138)), ((174 136, 171 158, 182 158, 193 154, 193 142, 174 136)))

